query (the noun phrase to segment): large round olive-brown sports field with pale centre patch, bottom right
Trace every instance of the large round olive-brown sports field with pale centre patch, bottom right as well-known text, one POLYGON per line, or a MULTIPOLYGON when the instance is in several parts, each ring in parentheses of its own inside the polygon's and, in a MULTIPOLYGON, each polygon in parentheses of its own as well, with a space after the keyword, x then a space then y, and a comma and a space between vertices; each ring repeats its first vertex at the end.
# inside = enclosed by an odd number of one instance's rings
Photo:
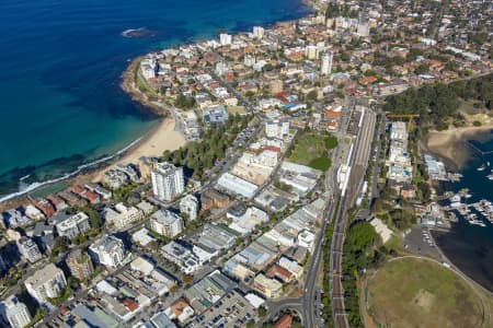
POLYGON ((462 278, 438 263, 405 258, 370 278, 367 307, 378 327, 480 327, 481 301, 462 278))

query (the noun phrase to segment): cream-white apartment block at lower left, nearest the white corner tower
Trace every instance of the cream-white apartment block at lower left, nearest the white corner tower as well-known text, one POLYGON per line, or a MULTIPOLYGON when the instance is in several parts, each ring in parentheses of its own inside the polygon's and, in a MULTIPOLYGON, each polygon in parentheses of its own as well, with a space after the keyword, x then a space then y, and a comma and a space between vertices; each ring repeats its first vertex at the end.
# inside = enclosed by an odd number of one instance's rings
POLYGON ((37 303, 45 304, 48 297, 54 298, 58 296, 67 285, 67 281, 65 280, 64 271, 54 263, 49 263, 27 278, 24 281, 24 285, 37 303))

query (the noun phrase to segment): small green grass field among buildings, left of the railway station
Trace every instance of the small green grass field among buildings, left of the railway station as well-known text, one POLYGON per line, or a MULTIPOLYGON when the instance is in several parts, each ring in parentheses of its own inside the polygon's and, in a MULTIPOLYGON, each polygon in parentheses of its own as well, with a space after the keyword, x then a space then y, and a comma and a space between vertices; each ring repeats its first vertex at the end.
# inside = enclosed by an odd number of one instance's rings
POLYGON ((329 151, 337 147, 335 137, 302 132, 288 157, 289 162, 326 171, 331 166, 329 151))

